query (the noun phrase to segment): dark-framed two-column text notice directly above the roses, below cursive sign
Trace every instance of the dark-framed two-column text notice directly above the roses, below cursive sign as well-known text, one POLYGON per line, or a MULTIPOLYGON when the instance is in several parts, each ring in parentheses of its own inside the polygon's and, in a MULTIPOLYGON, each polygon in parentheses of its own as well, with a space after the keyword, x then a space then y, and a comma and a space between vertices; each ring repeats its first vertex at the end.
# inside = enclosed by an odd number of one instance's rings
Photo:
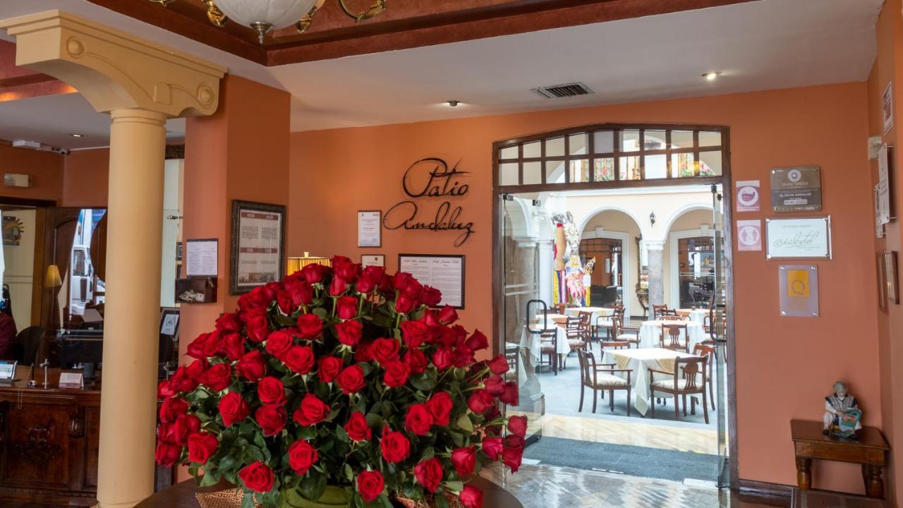
POLYGON ((414 276, 424 286, 442 292, 439 306, 464 308, 464 257, 441 254, 399 254, 398 271, 414 276))

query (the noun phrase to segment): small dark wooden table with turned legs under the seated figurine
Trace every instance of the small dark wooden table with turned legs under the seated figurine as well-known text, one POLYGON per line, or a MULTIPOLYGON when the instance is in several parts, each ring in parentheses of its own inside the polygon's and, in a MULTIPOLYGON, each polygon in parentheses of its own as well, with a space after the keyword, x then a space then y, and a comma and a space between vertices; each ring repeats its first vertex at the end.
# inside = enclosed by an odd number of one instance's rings
POLYGON ((812 459, 835 460, 861 464, 862 480, 869 497, 884 497, 881 474, 890 447, 874 427, 863 427, 858 439, 824 436, 822 422, 795 419, 790 422, 796 453, 796 484, 802 490, 812 488, 812 459))

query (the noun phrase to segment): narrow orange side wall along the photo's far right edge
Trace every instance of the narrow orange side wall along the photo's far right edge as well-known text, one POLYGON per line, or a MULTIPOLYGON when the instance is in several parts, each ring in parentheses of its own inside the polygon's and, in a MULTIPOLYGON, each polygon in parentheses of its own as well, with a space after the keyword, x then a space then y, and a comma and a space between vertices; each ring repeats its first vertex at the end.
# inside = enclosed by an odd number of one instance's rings
MULTIPOLYGON (((903 146, 903 129, 898 123, 903 118, 903 96, 899 90, 903 82, 903 18, 900 17, 900 0, 888 0, 878 20, 878 57, 869 77, 869 132, 871 136, 881 136, 883 118, 881 115, 881 96, 888 83, 893 82, 894 92, 894 127, 883 135, 883 141, 890 145, 903 146)), ((903 150, 898 149, 893 157, 894 176, 891 183, 896 186, 893 193, 895 210, 903 210, 903 181, 900 180, 899 169, 903 164, 903 150)), ((878 165, 871 165, 871 183, 877 184, 878 165)), ((899 215, 899 212, 897 212, 899 215)), ((885 226, 886 237, 875 239, 875 250, 900 251, 901 223, 894 221, 885 226)), ((880 352, 881 412, 884 417, 884 433, 892 449, 903 449, 903 343, 893 338, 903 336, 903 309, 900 306, 877 308, 878 336, 880 352)), ((891 468, 888 473, 891 485, 890 495, 898 503, 898 492, 903 485, 903 467, 900 467, 897 454, 891 453, 891 468), (896 491, 896 492, 894 492, 896 491)))

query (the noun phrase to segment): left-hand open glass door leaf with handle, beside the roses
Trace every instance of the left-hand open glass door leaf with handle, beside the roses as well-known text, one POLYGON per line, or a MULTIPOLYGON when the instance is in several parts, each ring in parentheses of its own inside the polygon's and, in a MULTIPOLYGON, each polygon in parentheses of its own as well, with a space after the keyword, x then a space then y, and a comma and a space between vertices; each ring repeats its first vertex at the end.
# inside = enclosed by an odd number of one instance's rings
POLYGON ((539 250, 535 235, 531 234, 534 202, 511 194, 502 194, 499 199, 502 307, 498 334, 511 367, 509 381, 517 381, 519 390, 517 406, 509 406, 507 414, 526 415, 529 443, 541 437, 540 419, 545 413, 543 391, 536 374, 542 356, 545 304, 538 301, 539 250))

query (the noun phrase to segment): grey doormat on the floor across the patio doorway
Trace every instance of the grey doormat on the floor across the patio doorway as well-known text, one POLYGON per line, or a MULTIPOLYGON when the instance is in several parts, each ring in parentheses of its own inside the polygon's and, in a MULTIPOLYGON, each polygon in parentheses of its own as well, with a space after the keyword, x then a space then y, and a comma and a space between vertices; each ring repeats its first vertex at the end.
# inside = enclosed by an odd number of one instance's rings
POLYGON ((610 471, 683 482, 684 479, 718 481, 719 456, 631 447, 609 443, 577 441, 561 437, 541 437, 526 447, 524 458, 549 466, 610 471))

